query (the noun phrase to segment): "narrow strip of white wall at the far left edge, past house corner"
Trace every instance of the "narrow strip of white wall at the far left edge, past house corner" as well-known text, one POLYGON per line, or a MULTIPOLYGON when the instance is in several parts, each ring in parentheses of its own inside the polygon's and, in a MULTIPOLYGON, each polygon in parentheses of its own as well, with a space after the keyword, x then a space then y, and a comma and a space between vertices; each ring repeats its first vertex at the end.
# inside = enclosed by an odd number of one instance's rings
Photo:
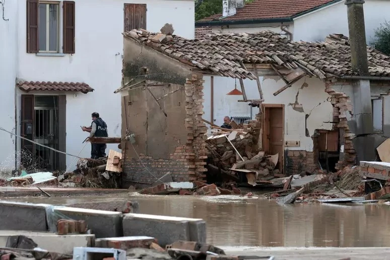
MULTIPOLYGON (((26 4, 26 3, 24 3, 26 4)), ((15 79, 17 75, 17 1, 6 1, 3 20, 0 5, 0 127, 15 133, 15 79)), ((0 178, 4 171, 15 168, 15 138, 0 131, 0 178)))

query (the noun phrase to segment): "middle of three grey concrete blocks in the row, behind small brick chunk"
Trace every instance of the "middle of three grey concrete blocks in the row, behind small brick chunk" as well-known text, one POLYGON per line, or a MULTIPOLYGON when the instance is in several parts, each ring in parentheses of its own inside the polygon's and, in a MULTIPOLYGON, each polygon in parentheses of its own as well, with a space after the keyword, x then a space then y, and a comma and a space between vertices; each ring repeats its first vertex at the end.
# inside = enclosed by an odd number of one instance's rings
POLYGON ((62 207, 54 208, 55 213, 74 220, 85 220, 96 238, 123 236, 123 214, 120 212, 62 207))

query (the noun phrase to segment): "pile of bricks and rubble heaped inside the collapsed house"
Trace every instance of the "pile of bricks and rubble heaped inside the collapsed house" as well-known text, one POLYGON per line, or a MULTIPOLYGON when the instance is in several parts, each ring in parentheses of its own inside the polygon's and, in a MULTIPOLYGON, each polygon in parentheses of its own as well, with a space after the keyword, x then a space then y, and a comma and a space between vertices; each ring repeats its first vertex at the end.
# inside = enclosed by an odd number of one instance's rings
POLYGON ((283 177, 276 168, 279 154, 258 151, 259 120, 248 124, 231 122, 232 129, 213 127, 207 139, 208 182, 226 185, 232 181, 250 186, 283 187, 283 177))

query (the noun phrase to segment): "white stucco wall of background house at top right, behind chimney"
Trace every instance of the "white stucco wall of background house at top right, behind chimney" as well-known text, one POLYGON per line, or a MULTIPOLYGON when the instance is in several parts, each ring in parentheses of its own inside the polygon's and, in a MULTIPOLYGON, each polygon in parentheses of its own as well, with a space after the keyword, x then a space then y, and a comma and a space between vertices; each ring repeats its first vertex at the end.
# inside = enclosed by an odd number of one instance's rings
MULTIPOLYGON (((365 0, 364 22, 367 44, 372 42, 374 30, 390 20, 390 1, 365 0)), ((349 36, 347 6, 344 1, 294 19, 294 40, 323 41, 332 33, 349 36)))

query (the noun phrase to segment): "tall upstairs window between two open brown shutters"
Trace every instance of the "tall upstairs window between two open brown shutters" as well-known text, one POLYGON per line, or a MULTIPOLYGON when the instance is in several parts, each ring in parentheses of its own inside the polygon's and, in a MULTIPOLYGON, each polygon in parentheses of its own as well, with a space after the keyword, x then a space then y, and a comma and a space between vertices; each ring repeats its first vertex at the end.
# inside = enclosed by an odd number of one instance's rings
POLYGON ((59 3, 39 2, 39 52, 58 52, 59 3))

